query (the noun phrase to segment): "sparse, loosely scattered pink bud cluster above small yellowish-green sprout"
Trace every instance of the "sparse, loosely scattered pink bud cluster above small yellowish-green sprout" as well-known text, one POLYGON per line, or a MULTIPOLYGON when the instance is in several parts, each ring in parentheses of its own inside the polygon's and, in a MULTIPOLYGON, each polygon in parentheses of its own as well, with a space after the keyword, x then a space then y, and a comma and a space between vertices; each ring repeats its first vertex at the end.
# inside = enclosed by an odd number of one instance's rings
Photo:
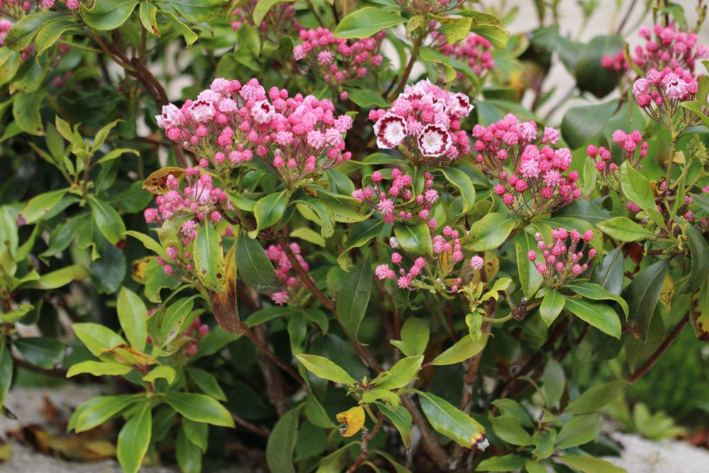
MULTIPOLYGON (((462 284, 462 278, 457 277, 452 279, 451 274, 454 273, 454 268, 459 262, 465 260, 465 255, 463 252, 462 245, 460 243, 461 234, 458 230, 454 230, 450 226, 443 228, 442 235, 435 235, 432 238, 433 243, 433 257, 435 263, 429 265, 425 258, 418 257, 413 260, 413 265, 407 270, 403 267, 404 257, 400 252, 393 252, 391 254, 391 262, 397 270, 391 269, 389 265, 379 265, 376 267, 374 274, 380 280, 382 279, 396 279, 396 284, 401 289, 430 289, 435 291, 436 289, 443 289, 449 293, 455 293, 458 291, 459 286, 462 284), (434 285, 426 284, 423 279, 425 275, 423 274, 423 269, 425 267, 436 271, 436 275, 432 276, 435 280, 434 285), (443 282, 445 279, 445 283, 443 282)), ((398 247, 398 242, 396 238, 391 238, 390 245, 396 250, 398 247)), ((469 260, 470 267, 475 270, 479 270, 484 265, 484 260, 482 257, 475 255, 469 260)), ((463 269, 463 268, 459 268, 463 269)))

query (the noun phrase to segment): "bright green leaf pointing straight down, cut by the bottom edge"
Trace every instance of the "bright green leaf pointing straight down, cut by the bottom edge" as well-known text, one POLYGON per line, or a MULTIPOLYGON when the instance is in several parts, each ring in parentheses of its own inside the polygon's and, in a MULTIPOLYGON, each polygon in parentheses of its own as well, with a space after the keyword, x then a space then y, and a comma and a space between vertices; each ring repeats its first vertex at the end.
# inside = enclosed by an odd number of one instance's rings
POLYGON ((150 446, 152 432, 152 412, 150 403, 145 401, 140 411, 123 425, 118 433, 116 457, 125 473, 138 473, 143 457, 150 446))

